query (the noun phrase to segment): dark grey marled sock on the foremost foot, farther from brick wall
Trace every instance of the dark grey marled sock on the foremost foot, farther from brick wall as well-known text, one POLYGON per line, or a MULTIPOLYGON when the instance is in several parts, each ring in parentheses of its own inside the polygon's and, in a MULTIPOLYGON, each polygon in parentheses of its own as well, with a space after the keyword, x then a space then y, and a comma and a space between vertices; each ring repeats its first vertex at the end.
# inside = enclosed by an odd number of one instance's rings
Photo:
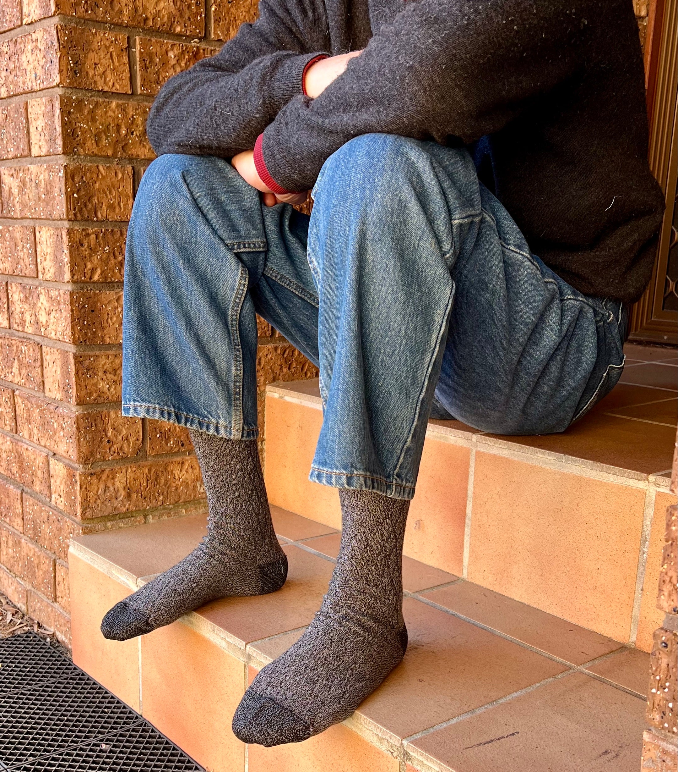
POLYGON ((258 673, 233 717, 245 743, 295 743, 353 713, 403 659, 402 552, 410 502, 339 490, 342 541, 309 628, 258 673))

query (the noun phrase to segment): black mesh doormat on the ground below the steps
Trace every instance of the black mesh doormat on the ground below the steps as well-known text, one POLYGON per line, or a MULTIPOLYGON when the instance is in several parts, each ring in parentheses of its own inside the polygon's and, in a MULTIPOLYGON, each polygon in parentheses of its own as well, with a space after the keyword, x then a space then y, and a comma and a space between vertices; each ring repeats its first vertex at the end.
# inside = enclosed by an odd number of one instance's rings
POLYGON ((0 640, 0 770, 201 772, 33 633, 0 640))

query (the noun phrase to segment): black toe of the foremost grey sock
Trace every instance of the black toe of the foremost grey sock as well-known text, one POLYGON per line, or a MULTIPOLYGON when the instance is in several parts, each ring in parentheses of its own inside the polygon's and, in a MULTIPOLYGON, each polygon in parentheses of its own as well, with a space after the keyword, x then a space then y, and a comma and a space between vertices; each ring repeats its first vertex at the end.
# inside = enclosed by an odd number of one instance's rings
POLYGON ((307 723, 271 697, 252 689, 245 692, 233 716, 233 733, 244 743, 270 748, 283 743, 308 740, 311 730, 307 723))

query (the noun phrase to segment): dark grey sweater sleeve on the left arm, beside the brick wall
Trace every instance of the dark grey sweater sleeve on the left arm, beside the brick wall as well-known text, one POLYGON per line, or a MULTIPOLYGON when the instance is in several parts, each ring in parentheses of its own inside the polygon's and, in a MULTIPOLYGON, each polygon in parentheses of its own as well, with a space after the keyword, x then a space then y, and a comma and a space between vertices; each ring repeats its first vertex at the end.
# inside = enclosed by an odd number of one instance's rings
POLYGON ((327 29, 322 0, 261 0, 256 22, 160 89, 146 126, 153 150, 231 157, 254 147, 302 95, 305 67, 328 56, 327 29))

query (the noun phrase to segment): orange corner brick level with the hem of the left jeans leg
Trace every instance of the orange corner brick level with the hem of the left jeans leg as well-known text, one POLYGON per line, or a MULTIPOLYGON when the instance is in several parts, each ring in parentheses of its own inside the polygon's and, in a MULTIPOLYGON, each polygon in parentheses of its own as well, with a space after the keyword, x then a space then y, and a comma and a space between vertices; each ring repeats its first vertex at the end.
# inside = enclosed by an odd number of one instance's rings
POLYGON ((119 410, 74 413, 49 400, 16 394, 19 435, 79 463, 136 455, 141 447, 141 419, 119 410))

